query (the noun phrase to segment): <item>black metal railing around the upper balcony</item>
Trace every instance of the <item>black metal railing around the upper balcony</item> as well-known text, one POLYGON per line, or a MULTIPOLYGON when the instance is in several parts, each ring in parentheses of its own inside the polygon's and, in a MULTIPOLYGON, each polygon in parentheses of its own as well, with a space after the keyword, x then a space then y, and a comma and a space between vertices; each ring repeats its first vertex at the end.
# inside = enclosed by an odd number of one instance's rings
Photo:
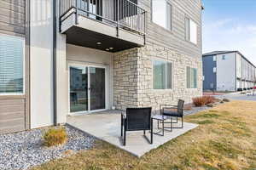
MULTIPOLYGON (((137 0, 60 0, 60 23, 75 14, 140 35, 146 31, 146 11, 136 4, 137 0), (132 2, 131 2, 132 1, 132 2)), ((118 33, 117 33, 118 35, 118 33)))

